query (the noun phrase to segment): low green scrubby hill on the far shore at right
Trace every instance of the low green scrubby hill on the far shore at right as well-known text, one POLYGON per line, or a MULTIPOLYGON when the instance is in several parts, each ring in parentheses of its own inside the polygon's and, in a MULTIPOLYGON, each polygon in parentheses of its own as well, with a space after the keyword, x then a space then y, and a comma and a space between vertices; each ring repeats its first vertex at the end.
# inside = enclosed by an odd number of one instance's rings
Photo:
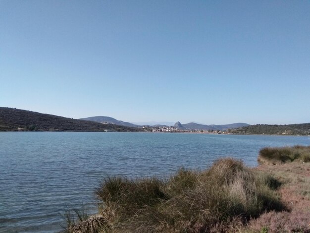
POLYGON ((309 135, 310 123, 303 124, 255 124, 230 130, 235 134, 281 134, 281 135, 309 135))

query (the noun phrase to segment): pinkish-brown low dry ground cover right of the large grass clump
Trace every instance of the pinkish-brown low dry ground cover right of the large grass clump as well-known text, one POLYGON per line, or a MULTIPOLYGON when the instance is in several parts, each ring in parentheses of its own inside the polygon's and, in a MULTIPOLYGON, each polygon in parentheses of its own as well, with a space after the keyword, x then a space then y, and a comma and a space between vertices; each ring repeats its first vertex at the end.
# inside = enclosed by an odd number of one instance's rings
POLYGON ((260 232, 264 228, 268 233, 310 233, 310 163, 261 165, 257 170, 283 183, 278 192, 288 211, 265 213, 250 221, 245 232, 260 232))

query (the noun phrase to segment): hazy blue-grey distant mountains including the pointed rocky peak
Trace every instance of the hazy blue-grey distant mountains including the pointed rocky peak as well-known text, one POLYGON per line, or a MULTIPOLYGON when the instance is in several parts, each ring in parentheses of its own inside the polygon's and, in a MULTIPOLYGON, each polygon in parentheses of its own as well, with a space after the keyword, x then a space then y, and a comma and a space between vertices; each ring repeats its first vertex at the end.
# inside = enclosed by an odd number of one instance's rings
POLYGON ((175 123, 174 127, 177 126, 177 128, 182 129, 181 127, 183 127, 184 129, 197 129, 197 130, 221 130, 221 131, 225 131, 228 128, 238 128, 238 127, 242 127, 242 126, 248 126, 249 124, 247 123, 233 123, 233 124, 223 124, 223 125, 216 125, 216 124, 211 124, 211 125, 207 125, 207 124, 198 124, 198 123, 194 123, 194 122, 190 122, 187 124, 181 124, 179 121, 175 123))

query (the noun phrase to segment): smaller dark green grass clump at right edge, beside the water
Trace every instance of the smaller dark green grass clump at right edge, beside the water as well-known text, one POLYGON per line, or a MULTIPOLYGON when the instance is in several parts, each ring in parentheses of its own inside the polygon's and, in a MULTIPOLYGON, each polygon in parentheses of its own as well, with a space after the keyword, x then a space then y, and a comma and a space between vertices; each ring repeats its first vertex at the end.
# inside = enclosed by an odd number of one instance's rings
POLYGON ((265 147, 259 151, 259 163, 283 164, 310 162, 310 146, 265 147))

